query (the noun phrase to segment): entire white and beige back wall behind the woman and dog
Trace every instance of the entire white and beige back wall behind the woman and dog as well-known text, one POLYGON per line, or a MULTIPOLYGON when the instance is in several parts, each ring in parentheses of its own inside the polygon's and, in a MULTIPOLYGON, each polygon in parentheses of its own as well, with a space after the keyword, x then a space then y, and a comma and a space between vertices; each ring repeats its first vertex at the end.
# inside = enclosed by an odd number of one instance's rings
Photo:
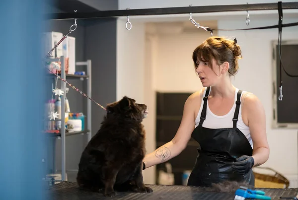
MULTIPOLYGON (((198 5, 199 2, 203 3, 204 1, 192 0, 187 2, 187 4, 192 3, 193 5, 198 5)), ((262 2, 270 1, 263 0, 262 2)), ((246 1, 228 0, 223 2, 213 0, 205 3, 208 5, 237 4, 246 3, 246 1)), ((252 1, 249 3, 252 3, 252 1)), ((146 4, 144 1, 119 0, 119 9, 125 9, 126 7, 134 9, 172 6, 185 5, 183 4, 183 1, 180 0, 151 0, 146 1, 146 4), (142 4, 140 4, 141 2, 142 4)), ((277 13, 277 11, 275 12, 277 13)), ((206 17, 201 15, 202 17, 196 18, 196 20, 207 20, 207 15, 208 14, 206 14, 206 17)), ((293 19, 290 19, 290 16, 291 15, 284 15, 283 23, 297 22, 297 16, 293 19)), ((156 21, 156 19, 153 18, 154 17, 152 16, 152 21, 156 21)), ((138 22, 137 19, 139 18, 131 20, 133 28, 130 31, 125 29, 126 18, 124 18, 118 25, 117 98, 119 99, 123 95, 130 95, 136 98, 137 101, 147 102, 150 105, 149 109, 151 108, 150 110, 154 110, 154 90, 163 92, 192 92, 200 89, 202 86, 194 73, 191 54, 193 49, 204 40, 204 37, 208 37, 209 34, 204 31, 199 31, 200 34, 169 34, 145 38, 144 22, 138 22), (146 55, 144 56, 144 54, 146 55), (149 69, 150 66, 151 69, 149 69), (137 70, 138 73, 135 70, 137 70), (136 74, 139 75, 135 77, 136 74)), ((167 21, 174 19, 177 18, 171 18, 169 16, 167 21)), ((264 15, 261 18, 256 15, 251 16, 249 26, 246 26, 245 24, 245 15, 244 17, 229 16, 226 18, 220 16, 217 17, 217 19, 219 20, 218 28, 220 29, 275 25, 278 21, 276 14, 264 15), (227 20, 227 18, 229 19, 227 20)), ((179 20, 181 21, 182 19, 179 20)), ((150 21, 150 19, 147 18, 144 20, 143 18, 143 21, 150 21)), ((271 40, 277 39, 278 29, 233 32, 222 31, 219 32, 218 35, 237 37, 238 44, 242 48, 243 59, 239 62, 240 70, 233 80, 233 83, 236 87, 242 90, 247 90, 256 94, 265 107, 267 136, 271 152, 269 160, 263 166, 271 167, 281 172, 289 179, 297 177, 297 130, 271 129, 271 119, 273 114, 271 40), (256 78, 256 81, 252 81, 253 78, 256 78)), ((297 35, 298 27, 283 29, 283 40, 297 40, 297 35)), ((154 114, 154 112, 152 114, 154 114)), ((149 134, 147 134, 146 143, 146 148, 149 152, 154 150, 155 146, 154 122, 155 119, 153 119, 153 117, 144 122, 144 124, 146 124, 146 129, 149 132, 149 134)), ((153 174, 153 169, 149 168, 145 170, 144 180, 145 183, 154 184, 155 174, 153 174)), ((292 187, 298 186, 292 185, 292 187)))

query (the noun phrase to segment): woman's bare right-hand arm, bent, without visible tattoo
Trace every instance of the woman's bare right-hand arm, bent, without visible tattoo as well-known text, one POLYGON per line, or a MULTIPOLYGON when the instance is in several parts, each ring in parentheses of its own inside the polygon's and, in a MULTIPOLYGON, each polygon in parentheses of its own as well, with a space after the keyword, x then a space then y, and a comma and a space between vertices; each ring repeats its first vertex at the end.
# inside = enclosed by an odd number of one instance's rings
POLYGON ((265 110, 261 101, 251 93, 245 96, 244 106, 253 142, 252 157, 256 167, 264 164, 269 158, 265 110))

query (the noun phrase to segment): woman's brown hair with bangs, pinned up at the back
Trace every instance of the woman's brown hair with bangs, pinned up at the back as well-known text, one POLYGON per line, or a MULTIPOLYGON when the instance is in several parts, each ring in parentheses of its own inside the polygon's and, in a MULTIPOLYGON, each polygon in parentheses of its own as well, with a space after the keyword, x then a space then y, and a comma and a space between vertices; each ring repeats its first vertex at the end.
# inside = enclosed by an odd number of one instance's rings
POLYGON ((199 45, 193 52, 193 61, 195 68, 198 67, 197 60, 208 62, 209 67, 212 68, 212 59, 217 61, 218 65, 224 62, 229 63, 229 75, 235 75, 238 71, 238 59, 242 58, 240 46, 234 40, 219 36, 212 36, 207 38, 201 45, 199 45))

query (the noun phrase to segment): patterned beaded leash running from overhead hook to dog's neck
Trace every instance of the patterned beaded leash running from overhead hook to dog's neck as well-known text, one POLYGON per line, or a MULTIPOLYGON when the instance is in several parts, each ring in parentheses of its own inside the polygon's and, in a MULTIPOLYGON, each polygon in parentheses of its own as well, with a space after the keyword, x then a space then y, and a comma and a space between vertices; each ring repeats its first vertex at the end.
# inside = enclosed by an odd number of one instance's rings
MULTIPOLYGON (((70 33, 72 33, 75 29, 76 29, 77 25, 76 25, 76 19, 74 19, 74 24, 70 27, 70 31, 68 32, 68 34, 64 35, 63 38, 54 46, 54 48, 49 51, 49 53, 46 55, 46 57, 43 59, 43 61, 45 61, 47 58, 49 58, 49 56, 51 55, 51 53, 55 50, 56 47, 58 47, 61 42, 68 37, 68 35, 70 33)), ((46 66, 45 66, 46 67, 46 66)), ((48 67, 46 67, 48 69, 48 67)), ((53 73, 50 69, 48 69, 51 73, 53 73)), ((79 92, 81 95, 83 95, 84 97, 90 99, 91 101, 93 101, 94 103, 96 103, 98 106, 100 106, 102 109, 106 110, 105 107, 103 107, 102 105, 100 105, 99 103, 97 103, 96 101, 94 101, 93 99, 91 99, 90 97, 88 97, 85 93, 83 93, 81 90, 79 90, 78 88, 76 88, 74 85, 72 85, 71 83, 69 83, 67 80, 65 80, 64 78, 61 78, 61 76, 53 73, 55 76, 57 76, 59 79, 61 79, 62 81, 64 81, 66 84, 68 84, 70 87, 72 87, 75 91, 79 92)))

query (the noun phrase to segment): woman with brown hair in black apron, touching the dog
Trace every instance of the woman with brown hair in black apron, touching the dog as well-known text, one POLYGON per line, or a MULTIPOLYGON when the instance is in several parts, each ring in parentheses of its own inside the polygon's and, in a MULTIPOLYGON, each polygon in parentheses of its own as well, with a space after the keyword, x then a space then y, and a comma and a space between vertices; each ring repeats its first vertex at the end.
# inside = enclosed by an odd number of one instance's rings
POLYGON ((177 156, 193 137, 200 148, 188 185, 245 181, 254 186, 252 167, 269 157, 265 112, 254 94, 231 84, 241 56, 236 43, 214 36, 194 50, 195 70, 204 88, 188 97, 174 138, 147 154, 143 169, 177 156))

